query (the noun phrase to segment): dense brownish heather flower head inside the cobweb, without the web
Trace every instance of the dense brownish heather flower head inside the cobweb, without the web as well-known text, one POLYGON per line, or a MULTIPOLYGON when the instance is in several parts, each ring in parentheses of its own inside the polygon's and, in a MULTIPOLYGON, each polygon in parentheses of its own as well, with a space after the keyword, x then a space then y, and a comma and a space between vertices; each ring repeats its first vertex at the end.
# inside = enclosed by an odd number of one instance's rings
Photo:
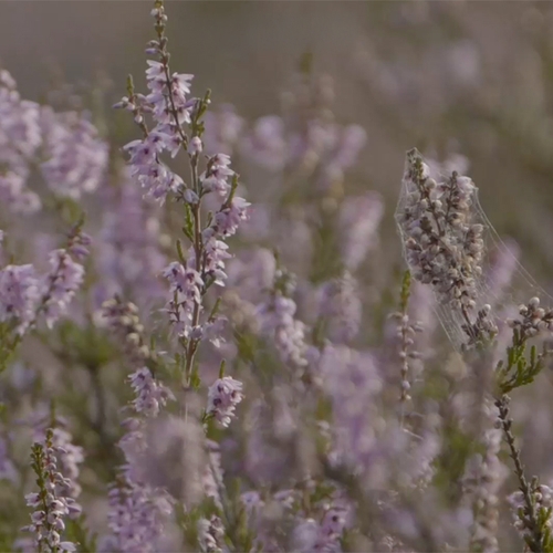
POLYGON ((456 173, 436 182, 416 150, 407 154, 403 196, 396 212, 413 276, 431 284, 438 302, 459 321, 467 344, 491 338, 490 306, 479 306, 483 226, 472 222, 476 186, 456 173))

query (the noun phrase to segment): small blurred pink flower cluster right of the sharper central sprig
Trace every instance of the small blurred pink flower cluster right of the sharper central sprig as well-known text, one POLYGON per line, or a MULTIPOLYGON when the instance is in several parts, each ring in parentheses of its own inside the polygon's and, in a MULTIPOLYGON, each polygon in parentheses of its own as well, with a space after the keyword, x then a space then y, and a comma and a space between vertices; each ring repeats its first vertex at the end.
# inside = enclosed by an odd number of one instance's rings
POLYGON ((345 272, 342 278, 325 283, 321 289, 320 315, 328 322, 328 337, 334 343, 348 343, 359 331, 362 317, 357 282, 345 272))

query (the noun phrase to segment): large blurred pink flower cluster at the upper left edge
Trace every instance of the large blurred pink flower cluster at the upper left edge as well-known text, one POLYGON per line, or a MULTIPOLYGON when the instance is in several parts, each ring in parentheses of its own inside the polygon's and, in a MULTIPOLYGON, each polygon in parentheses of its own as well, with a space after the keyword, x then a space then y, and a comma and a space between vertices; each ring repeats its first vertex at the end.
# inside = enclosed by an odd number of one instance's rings
POLYGON ((15 82, 0 72, 0 199, 14 213, 41 208, 27 180, 39 165, 49 188, 58 196, 79 199, 94 191, 107 167, 107 143, 86 114, 55 113, 50 106, 21 100, 15 82))

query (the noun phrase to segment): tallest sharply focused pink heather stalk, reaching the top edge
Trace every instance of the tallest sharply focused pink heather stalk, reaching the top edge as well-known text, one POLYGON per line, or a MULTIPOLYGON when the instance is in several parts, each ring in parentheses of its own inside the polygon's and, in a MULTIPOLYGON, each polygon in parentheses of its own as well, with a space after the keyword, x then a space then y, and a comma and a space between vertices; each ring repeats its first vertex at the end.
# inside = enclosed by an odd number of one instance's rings
POLYGON ((163 274, 170 285, 167 313, 182 346, 182 384, 192 383, 196 355, 205 337, 213 337, 220 327, 215 307, 206 316, 205 296, 213 284, 223 286, 227 279, 225 262, 230 257, 226 240, 236 233, 247 217, 249 204, 237 196, 238 176, 230 168, 230 157, 216 154, 204 157, 202 117, 210 104, 209 92, 202 98, 189 97, 192 75, 171 73, 165 34, 167 15, 164 3, 156 1, 152 11, 157 40, 148 43, 147 95, 136 94, 132 82, 129 94, 116 104, 133 112, 143 138, 125 146, 129 154, 131 174, 146 194, 164 202, 169 196, 184 206, 184 232, 190 242, 182 251, 177 242, 178 260, 163 274), (152 117, 148 128, 146 117, 152 117), (161 154, 175 157, 180 150, 188 158, 189 181, 173 173, 161 160, 161 154), (211 195, 219 207, 204 219, 202 200, 211 195))

